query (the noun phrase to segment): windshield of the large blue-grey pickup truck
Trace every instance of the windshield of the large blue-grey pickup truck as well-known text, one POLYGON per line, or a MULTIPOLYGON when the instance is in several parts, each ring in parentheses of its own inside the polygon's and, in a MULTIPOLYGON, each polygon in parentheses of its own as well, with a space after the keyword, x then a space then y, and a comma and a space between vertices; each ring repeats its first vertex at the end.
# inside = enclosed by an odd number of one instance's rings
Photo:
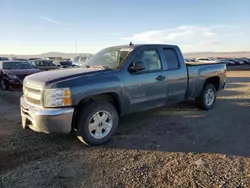
POLYGON ((108 48, 101 50, 86 61, 85 67, 102 66, 105 69, 117 69, 132 50, 133 48, 108 48))

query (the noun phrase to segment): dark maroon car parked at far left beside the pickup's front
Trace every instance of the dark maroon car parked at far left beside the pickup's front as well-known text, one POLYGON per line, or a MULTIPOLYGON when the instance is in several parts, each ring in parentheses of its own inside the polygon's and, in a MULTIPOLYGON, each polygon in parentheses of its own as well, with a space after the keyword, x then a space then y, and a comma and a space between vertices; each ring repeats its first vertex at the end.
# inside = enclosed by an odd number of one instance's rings
POLYGON ((37 72, 27 61, 0 61, 0 86, 3 90, 21 88, 23 79, 37 72))

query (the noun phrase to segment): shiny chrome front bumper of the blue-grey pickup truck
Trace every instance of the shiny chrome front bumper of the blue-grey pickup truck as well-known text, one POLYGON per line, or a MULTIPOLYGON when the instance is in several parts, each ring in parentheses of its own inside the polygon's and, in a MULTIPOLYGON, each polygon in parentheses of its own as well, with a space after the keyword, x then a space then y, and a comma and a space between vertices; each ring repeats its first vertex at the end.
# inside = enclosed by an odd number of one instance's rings
POLYGON ((74 108, 40 109, 29 105, 23 96, 20 98, 20 108, 23 128, 43 133, 71 132, 74 108))

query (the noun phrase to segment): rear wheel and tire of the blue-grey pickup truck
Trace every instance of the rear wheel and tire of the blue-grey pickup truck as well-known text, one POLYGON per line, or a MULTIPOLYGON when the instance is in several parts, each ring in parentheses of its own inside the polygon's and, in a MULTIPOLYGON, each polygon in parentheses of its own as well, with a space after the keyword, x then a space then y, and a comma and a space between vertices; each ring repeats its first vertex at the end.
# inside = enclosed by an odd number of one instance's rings
POLYGON ((203 88, 202 94, 200 97, 196 98, 197 104, 203 109, 203 110, 210 110, 214 107, 216 103, 216 89, 213 84, 206 84, 203 88), (210 93, 210 95, 208 94, 210 93), (212 97, 213 95, 213 97, 212 97), (210 96, 210 97, 209 97, 210 96), (207 99, 207 97, 210 98, 207 99), (210 101, 210 102, 208 102, 210 101))

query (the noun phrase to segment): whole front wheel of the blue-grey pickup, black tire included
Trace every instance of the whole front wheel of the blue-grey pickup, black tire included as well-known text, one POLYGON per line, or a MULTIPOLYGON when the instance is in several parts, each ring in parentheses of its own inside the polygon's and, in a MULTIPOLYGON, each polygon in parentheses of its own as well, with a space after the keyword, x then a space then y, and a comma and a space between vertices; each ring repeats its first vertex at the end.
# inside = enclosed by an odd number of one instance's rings
POLYGON ((109 141, 119 124, 117 110, 106 101, 96 101, 83 106, 77 118, 77 137, 84 144, 91 146, 103 145, 109 141))

